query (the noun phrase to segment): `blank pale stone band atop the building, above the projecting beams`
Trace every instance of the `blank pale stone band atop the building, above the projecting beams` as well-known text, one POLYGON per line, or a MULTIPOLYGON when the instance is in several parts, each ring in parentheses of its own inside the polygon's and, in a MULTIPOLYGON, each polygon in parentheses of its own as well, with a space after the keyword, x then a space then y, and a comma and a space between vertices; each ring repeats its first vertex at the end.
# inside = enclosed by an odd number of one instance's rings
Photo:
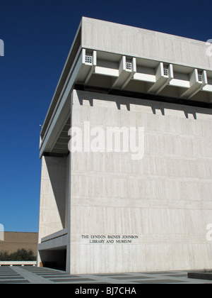
POLYGON ((211 70, 206 43, 83 17, 82 48, 211 70))

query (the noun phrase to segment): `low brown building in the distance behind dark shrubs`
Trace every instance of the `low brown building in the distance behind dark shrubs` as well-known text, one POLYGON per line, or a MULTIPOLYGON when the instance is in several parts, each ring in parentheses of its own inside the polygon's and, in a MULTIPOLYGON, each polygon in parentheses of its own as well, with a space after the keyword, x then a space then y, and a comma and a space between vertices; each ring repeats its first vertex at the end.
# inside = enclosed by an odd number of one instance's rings
POLYGON ((18 249, 32 250, 37 255, 37 233, 4 232, 4 241, 0 241, 0 251, 15 253, 18 249))

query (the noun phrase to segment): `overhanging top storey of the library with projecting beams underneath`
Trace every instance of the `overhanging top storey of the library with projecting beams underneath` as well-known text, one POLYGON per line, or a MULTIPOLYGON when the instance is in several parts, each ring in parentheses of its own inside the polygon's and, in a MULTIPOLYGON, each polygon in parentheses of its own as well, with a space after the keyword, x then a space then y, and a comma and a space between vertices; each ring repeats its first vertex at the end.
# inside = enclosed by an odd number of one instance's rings
POLYGON ((68 138, 63 143, 61 136, 70 123, 76 84, 211 108, 212 57, 206 49, 203 41, 83 17, 42 126, 40 156, 64 153, 68 138))

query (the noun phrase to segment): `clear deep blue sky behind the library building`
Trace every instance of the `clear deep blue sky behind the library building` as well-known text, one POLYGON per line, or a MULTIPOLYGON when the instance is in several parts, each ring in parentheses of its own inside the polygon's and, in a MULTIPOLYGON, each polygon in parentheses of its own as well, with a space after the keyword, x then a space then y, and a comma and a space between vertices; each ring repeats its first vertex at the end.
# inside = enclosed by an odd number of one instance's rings
POLYGON ((0 223, 5 231, 38 231, 40 124, 81 16, 212 38, 211 0, 1 0, 0 223))

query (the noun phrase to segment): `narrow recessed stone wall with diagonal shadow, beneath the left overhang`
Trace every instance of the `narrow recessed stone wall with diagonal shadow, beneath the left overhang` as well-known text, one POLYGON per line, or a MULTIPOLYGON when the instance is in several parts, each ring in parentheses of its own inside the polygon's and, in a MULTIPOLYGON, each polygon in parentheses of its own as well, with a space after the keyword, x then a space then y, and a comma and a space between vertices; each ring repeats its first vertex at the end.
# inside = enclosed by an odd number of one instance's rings
POLYGON ((42 157, 39 243, 66 228, 66 159, 42 157))

